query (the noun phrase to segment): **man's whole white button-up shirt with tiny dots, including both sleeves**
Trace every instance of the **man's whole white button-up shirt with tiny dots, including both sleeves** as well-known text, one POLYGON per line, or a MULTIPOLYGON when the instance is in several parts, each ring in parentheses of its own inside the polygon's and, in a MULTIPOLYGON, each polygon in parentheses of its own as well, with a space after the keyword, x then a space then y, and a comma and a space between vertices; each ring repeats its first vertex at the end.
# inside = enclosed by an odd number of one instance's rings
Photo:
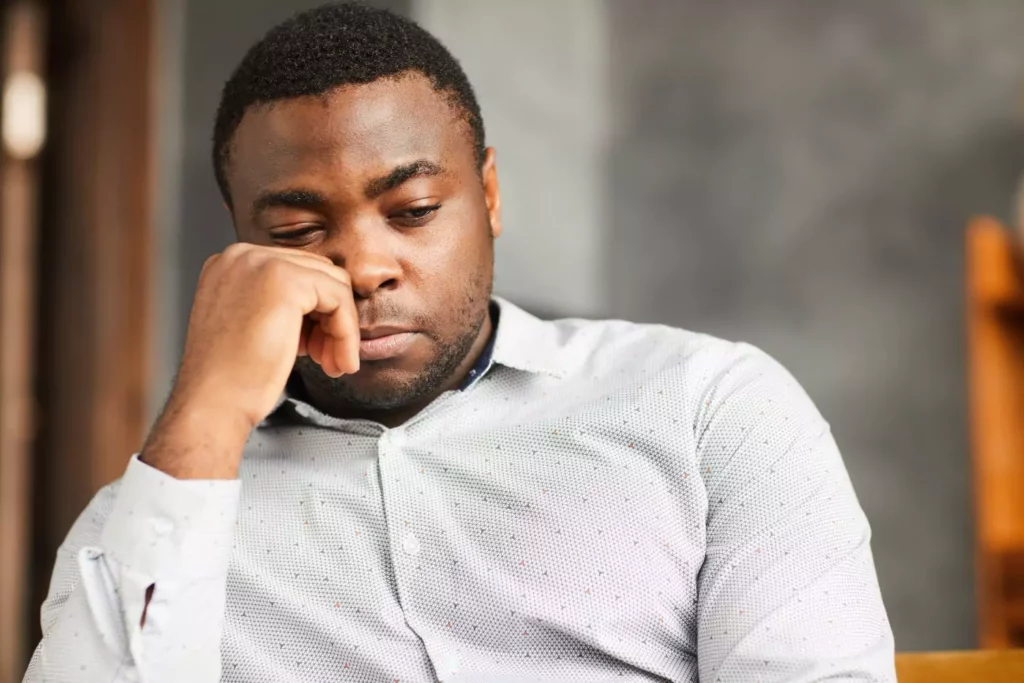
POLYGON ((867 521, 781 367, 500 306, 489 370, 399 428, 289 399, 241 483, 133 460, 26 680, 895 680, 867 521))

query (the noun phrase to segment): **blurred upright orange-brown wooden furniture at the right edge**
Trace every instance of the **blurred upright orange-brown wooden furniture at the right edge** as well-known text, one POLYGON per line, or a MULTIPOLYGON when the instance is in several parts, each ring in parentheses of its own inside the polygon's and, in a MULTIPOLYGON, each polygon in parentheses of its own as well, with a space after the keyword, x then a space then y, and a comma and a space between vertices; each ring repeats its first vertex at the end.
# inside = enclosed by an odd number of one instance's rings
MULTIPOLYGON (((1017 236, 994 218, 976 218, 968 226, 968 370, 983 648, 1024 647, 1022 251, 1017 236)), ((1024 673, 1015 680, 1024 681, 1024 673)))

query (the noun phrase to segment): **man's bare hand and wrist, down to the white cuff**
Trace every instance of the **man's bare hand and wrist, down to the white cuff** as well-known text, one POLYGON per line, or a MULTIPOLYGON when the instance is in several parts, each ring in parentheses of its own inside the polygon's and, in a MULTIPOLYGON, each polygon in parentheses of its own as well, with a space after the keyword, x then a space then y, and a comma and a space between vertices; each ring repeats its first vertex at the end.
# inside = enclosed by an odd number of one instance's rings
POLYGON ((332 377, 359 369, 348 273, 294 249, 236 244, 200 275, 174 388, 142 460, 178 478, 232 478, 297 355, 332 377))

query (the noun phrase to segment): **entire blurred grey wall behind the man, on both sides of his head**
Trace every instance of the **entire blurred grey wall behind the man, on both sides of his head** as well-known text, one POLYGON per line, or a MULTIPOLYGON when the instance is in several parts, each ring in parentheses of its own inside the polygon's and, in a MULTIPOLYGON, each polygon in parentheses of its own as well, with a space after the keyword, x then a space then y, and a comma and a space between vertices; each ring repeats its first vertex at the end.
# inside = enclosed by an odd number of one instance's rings
MULTIPOLYGON (((220 86, 313 4, 180 17, 167 381, 200 266, 232 237, 209 164, 220 86)), ((963 228, 1006 215, 1024 169, 1024 3, 390 4, 476 82, 506 190, 498 290, 781 359, 845 453, 897 646, 973 646, 963 228)))

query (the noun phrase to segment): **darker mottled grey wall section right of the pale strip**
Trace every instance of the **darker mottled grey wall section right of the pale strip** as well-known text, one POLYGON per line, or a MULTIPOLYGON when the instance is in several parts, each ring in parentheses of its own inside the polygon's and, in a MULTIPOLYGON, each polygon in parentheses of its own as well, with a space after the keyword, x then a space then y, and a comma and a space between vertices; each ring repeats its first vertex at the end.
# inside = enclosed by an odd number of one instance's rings
POLYGON ((610 311, 829 419, 903 649, 975 642, 963 228, 1024 169, 1024 3, 612 2, 610 311))

